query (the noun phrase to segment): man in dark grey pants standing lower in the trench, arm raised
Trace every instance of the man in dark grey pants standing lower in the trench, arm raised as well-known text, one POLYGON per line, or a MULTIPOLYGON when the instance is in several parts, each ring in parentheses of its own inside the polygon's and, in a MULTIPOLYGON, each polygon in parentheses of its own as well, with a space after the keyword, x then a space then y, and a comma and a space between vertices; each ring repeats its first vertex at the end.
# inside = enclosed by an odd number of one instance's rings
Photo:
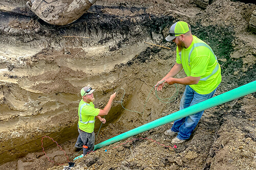
POLYGON ((113 100, 116 97, 116 92, 110 96, 108 104, 104 107, 103 110, 94 108, 94 98, 93 91, 91 87, 83 87, 80 91, 82 100, 79 103, 78 107, 78 132, 79 136, 77 138, 75 148, 81 149, 83 148, 83 156, 87 153, 94 150, 94 123, 95 116, 102 122, 106 123, 104 118, 101 118, 103 115, 107 115, 111 109, 111 105, 113 100))

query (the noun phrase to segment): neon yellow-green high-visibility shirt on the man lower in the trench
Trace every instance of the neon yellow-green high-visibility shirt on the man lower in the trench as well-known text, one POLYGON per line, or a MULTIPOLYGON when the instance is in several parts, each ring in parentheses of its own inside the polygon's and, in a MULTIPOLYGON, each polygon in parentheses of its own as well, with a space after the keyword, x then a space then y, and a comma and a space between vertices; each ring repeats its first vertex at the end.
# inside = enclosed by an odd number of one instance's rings
POLYGON ((86 103, 81 100, 78 107, 79 129, 87 133, 92 133, 94 130, 95 116, 99 114, 99 110, 94 108, 92 102, 86 103))

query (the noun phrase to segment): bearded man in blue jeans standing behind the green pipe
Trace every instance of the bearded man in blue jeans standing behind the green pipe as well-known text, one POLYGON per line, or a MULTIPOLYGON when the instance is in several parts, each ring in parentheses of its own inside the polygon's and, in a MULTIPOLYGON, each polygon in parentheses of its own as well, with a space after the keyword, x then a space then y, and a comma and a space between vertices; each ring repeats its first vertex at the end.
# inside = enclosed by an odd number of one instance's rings
MULTIPOLYGON (((172 69, 156 84, 157 90, 161 90, 165 83, 186 85, 180 101, 180 110, 212 98, 221 82, 221 68, 211 48, 192 35, 190 26, 184 21, 174 23, 165 39, 177 44, 177 57, 172 69), (174 78, 182 68, 187 77, 174 78)), ((184 142, 196 128, 203 112, 175 120, 173 127, 164 134, 178 134, 172 140, 173 144, 184 142)))

